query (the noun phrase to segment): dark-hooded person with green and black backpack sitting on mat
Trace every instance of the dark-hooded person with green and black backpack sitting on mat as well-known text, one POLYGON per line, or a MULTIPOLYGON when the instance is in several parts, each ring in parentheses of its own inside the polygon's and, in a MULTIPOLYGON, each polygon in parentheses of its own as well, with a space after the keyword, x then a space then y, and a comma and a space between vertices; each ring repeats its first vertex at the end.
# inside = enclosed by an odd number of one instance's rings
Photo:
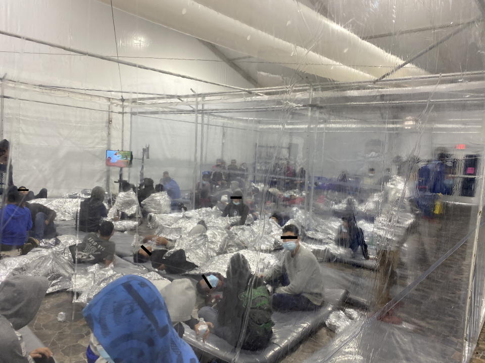
POLYGON ((236 346, 250 297, 249 321, 241 347, 247 350, 264 349, 271 340, 274 325, 269 292, 263 280, 253 276, 248 260, 239 253, 231 257, 227 266, 219 304, 216 308, 202 308, 199 317, 214 325, 214 334, 236 346))

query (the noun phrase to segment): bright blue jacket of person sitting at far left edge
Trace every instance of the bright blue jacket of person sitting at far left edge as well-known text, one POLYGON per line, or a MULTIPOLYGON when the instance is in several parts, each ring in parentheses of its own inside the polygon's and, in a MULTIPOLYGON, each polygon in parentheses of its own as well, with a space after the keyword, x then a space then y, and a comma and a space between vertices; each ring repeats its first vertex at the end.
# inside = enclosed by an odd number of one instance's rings
POLYGON ((27 231, 32 228, 32 216, 26 207, 8 204, 0 209, 0 233, 2 244, 22 246, 27 239, 27 231))

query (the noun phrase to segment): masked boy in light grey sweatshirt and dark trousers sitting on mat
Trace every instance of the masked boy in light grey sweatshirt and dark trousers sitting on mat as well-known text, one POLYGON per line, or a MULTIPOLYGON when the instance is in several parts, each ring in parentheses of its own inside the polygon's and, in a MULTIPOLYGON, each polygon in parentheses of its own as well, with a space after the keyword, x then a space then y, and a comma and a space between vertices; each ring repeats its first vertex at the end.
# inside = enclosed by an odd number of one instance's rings
POLYGON ((281 286, 272 295, 273 309, 315 310, 323 302, 323 276, 316 257, 300 245, 298 227, 283 227, 283 248, 286 250, 282 263, 265 271, 267 282, 278 281, 281 286))

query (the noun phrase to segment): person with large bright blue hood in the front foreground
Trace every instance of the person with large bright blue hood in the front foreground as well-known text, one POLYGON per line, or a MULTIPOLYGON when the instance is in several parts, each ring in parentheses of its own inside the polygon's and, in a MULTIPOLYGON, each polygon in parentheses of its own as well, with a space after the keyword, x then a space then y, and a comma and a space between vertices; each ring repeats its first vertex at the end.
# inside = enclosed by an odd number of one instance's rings
MULTIPOLYGON (((188 309, 184 302, 180 305, 183 309, 176 312, 184 318, 188 309)), ((141 276, 126 275, 111 282, 82 314, 92 332, 86 350, 88 363, 199 361, 173 329, 160 292, 141 276)))

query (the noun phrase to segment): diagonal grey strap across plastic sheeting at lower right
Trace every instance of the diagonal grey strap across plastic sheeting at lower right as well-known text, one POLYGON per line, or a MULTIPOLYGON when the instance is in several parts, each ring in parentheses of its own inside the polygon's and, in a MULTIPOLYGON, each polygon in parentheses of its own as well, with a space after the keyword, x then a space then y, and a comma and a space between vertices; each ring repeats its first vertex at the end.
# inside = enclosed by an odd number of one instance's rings
MULTIPOLYGON (((481 217, 480 217, 481 218, 481 217)), ((485 220, 481 221, 478 227, 481 227, 485 224, 485 220)), ((411 282, 407 287, 405 287, 401 292, 397 294, 391 301, 387 302, 386 305, 382 307, 382 309, 378 310, 374 313, 369 319, 364 321, 362 325, 352 333, 348 338, 344 339, 344 341, 338 345, 334 350, 332 350, 323 360, 320 361, 327 361, 328 359, 332 358, 333 355, 341 350, 348 342, 353 340, 357 335, 359 335, 365 328, 367 328, 372 322, 374 322, 379 316, 389 312, 392 308, 398 304, 408 293, 410 293, 417 285, 419 285, 426 277, 431 274, 438 266, 440 266, 448 257, 453 255, 463 244, 465 241, 470 237, 472 233, 476 231, 476 228, 471 229, 465 236, 458 241, 458 243, 453 246, 450 250, 448 250, 444 255, 442 255, 437 261, 435 261, 426 271, 424 271, 420 276, 418 276, 413 282, 411 282)))

